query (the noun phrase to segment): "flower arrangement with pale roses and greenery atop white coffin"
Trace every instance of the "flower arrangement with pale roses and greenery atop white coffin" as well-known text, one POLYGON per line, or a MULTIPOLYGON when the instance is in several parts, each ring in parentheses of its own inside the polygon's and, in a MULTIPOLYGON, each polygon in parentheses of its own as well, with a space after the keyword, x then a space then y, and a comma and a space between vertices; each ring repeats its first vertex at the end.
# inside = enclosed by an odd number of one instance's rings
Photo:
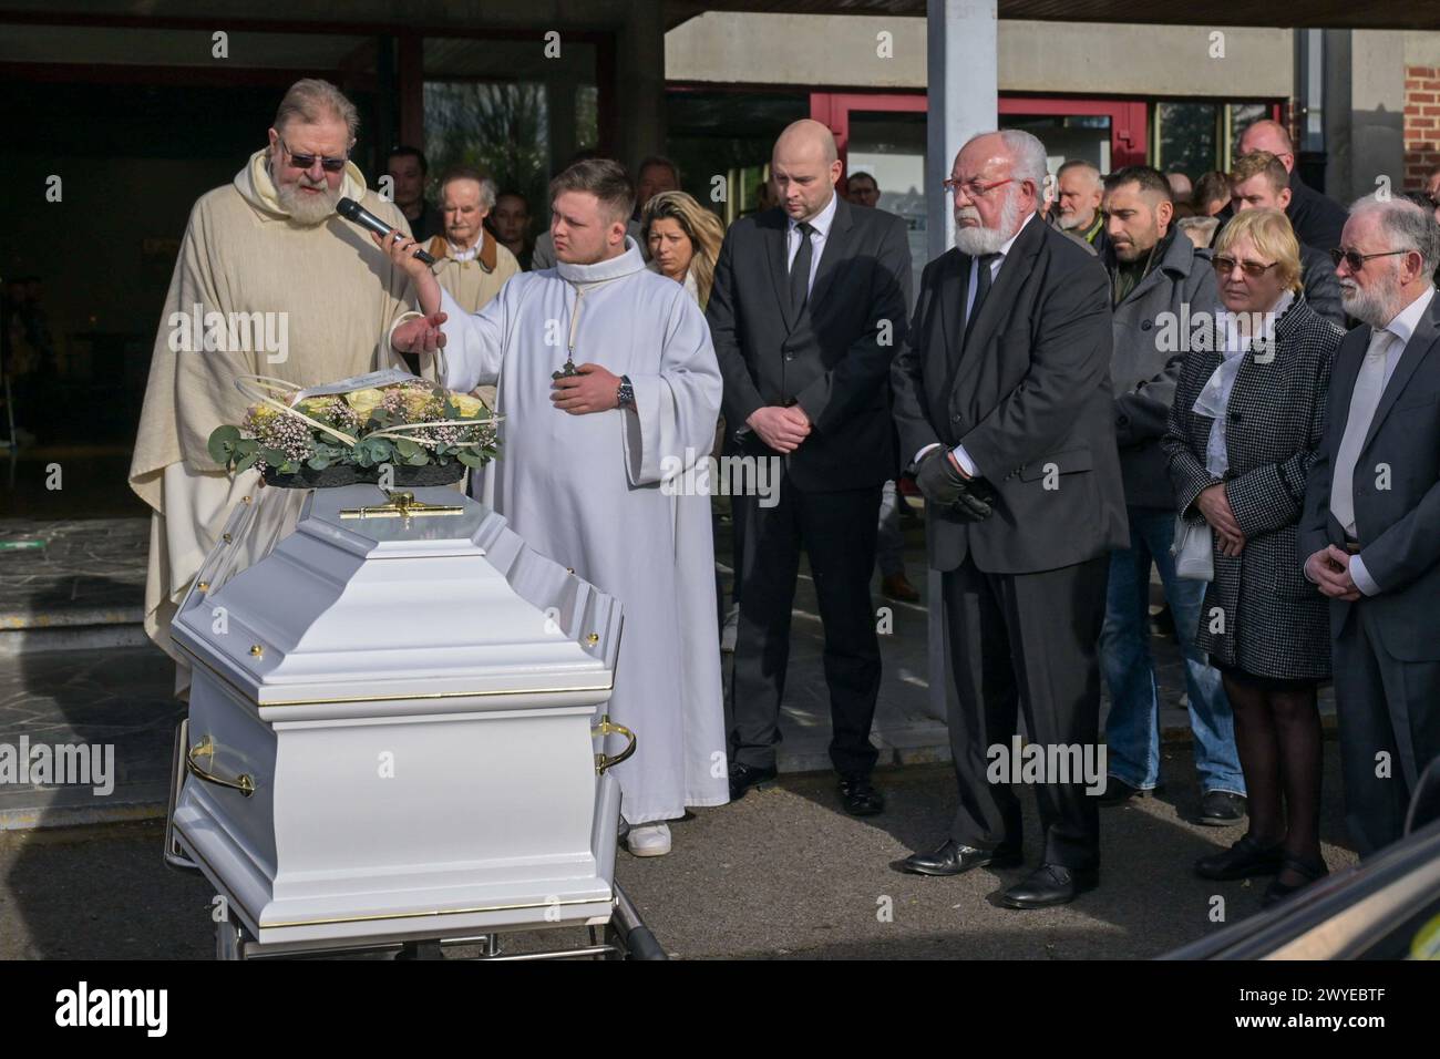
POLYGON ((232 473, 255 467, 271 486, 374 483, 386 465, 396 486, 442 486, 488 464, 500 447, 500 416, 482 401, 400 372, 308 390, 264 376, 236 386, 255 403, 239 425, 210 434, 210 458, 232 473), (367 382, 379 385, 346 388, 367 382))

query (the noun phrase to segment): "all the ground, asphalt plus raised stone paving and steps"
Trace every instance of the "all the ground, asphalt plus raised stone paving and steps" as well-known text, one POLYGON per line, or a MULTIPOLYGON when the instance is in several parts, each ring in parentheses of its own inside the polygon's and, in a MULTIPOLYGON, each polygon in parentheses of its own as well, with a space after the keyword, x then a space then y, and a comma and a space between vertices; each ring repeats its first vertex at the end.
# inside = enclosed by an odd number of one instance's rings
MULTIPOLYGON (((105 630, 134 627, 143 520, 0 520, 0 540, 40 536, 46 550, 0 552, 0 614, 12 630, 0 622, 0 640, 16 627, 22 635, 65 627, 94 644, 101 633, 109 635, 105 630)), ((727 539, 719 543, 724 563, 727 539)), ((920 545, 912 529, 907 558, 923 592, 920 545)), ((1018 877, 1015 872, 960 879, 893 872, 890 862, 943 837, 955 782, 943 764, 943 723, 929 707, 923 602, 886 604, 878 594, 876 602, 893 608, 893 630, 881 637, 876 723, 890 810, 876 820, 852 820, 840 811, 828 772, 815 772, 828 769, 829 726, 821 625, 814 586, 802 575, 782 719, 780 762, 791 775, 773 791, 675 824, 668 857, 619 856, 619 882, 668 951, 683 958, 1151 957, 1212 929, 1214 893, 1225 896, 1231 919, 1256 908, 1256 888, 1204 883, 1189 872, 1197 856, 1228 844, 1238 830, 1185 823, 1195 794, 1184 742, 1166 745, 1166 794, 1106 811, 1103 886, 1070 908, 1017 913, 992 906, 989 898, 1018 877)), ((32 745, 112 743, 118 782, 108 798, 35 784, 0 788, 0 958, 207 957, 207 885, 161 864, 158 821, 135 823, 163 808, 180 716, 170 697, 171 666, 151 647, 59 647, 36 651, 20 644, 3 658, 0 743, 20 736, 32 745), (82 826, 27 830, 56 823, 82 826)), ((1162 723, 1184 733, 1179 658, 1165 637, 1153 637, 1152 650, 1162 723)), ((1325 836, 1335 841, 1342 827, 1333 743, 1326 754, 1325 836)), ((1038 856, 1034 830, 1028 853, 1031 860, 1038 856)), ((1332 866, 1352 862, 1333 844, 1326 856, 1332 866)), ((508 944, 533 948, 540 939, 508 944)))

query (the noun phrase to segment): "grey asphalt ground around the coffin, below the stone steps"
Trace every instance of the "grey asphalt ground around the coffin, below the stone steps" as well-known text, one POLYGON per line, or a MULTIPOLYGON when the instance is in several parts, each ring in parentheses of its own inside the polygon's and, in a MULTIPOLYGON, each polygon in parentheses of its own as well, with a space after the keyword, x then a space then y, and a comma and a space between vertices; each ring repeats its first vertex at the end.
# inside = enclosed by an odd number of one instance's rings
MULTIPOLYGON (((1342 834, 1333 742, 1326 758, 1322 834, 1338 869, 1354 856, 1333 844, 1342 834)), ((1224 896, 1236 921, 1256 911, 1260 892, 1191 873, 1197 856, 1238 830, 1184 821, 1192 798, 1184 751, 1168 755, 1165 772, 1161 798, 1103 810, 1102 886, 1058 909, 994 906, 991 895, 1020 872, 922 879, 890 867, 933 843, 953 811, 953 777, 935 765, 881 774, 890 810, 864 821, 840 811, 828 778, 786 778, 675 824, 668 857, 621 853, 616 877, 680 958, 1153 957, 1215 929, 1212 895, 1224 896)), ((1032 862, 1034 803, 1024 798, 1032 862)), ((164 867, 160 847, 156 823, 0 833, 0 960, 212 955, 212 892, 203 879, 164 867)), ((523 935, 507 948, 536 944, 523 935)))

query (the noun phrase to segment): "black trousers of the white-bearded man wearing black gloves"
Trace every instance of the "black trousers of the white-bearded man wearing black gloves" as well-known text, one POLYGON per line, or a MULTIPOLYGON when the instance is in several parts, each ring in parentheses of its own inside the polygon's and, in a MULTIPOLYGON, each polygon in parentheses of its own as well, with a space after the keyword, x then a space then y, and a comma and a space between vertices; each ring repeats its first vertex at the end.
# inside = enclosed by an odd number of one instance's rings
MULTIPOLYGON (((1040 573, 985 573, 966 556, 942 575, 955 674, 949 726, 960 791, 950 828, 956 841, 985 850, 1021 846, 1020 798, 1009 784, 986 775, 989 748, 1009 754, 1021 715, 1030 742, 1041 748, 1099 745, 1096 650, 1109 573, 1106 555, 1040 573)), ((1035 785, 1044 863, 1076 870, 1099 864, 1100 810, 1084 787, 1035 785)))

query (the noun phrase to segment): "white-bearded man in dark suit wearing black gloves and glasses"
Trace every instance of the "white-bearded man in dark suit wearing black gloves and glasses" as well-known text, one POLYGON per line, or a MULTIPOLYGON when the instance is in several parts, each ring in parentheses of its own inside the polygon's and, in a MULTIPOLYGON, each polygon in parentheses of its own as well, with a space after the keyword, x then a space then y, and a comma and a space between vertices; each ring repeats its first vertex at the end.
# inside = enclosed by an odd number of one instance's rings
MULTIPOLYGON (((960 788, 950 839, 900 867, 959 875, 1021 863, 1008 755, 1017 713, 1045 758, 1097 756, 1110 552, 1129 546, 1110 396, 1110 284, 1087 248, 1035 218, 1045 148, 1008 130, 955 158, 956 248, 932 261, 891 373, 896 419, 926 497, 942 571, 960 788), (1009 772, 1009 769, 1005 769, 1009 772)), ((1054 769, 1037 787, 1041 866, 1011 908, 1074 899, 1099 880, 1103 778, 1054 769)))

